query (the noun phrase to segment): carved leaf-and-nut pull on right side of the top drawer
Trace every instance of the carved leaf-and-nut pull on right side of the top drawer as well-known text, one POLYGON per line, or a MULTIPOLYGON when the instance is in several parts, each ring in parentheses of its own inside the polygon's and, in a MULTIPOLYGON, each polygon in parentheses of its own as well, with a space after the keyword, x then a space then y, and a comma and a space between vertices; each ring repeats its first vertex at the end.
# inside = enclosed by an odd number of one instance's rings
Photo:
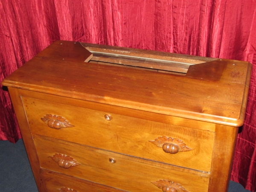
POLYGON ((162 147, 166 153, 175 154, 177 152, 190 151, 192 148, 186 146, 182 140, 172 139, 172 137, 158 137, 154 141, 149 141, 157 147, 162 147))

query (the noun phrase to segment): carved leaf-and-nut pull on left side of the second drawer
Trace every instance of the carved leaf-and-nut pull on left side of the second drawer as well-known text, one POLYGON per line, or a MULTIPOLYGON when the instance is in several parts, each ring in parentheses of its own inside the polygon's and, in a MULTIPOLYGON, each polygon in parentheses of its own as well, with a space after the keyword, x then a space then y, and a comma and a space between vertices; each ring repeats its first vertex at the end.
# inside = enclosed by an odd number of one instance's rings
POLYGON ((79 166, 81 163, 76 162, 72 157, 66 156, 64 154, 57 154, 50 156, 52 160, 58 163, 58 166, 68 169, 70 166, 79 166))

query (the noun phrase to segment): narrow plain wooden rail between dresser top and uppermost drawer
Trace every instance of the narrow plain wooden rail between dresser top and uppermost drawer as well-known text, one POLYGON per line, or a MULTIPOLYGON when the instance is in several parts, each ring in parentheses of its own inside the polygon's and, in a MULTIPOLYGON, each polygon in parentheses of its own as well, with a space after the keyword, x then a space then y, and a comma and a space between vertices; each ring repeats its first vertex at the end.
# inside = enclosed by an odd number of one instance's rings
POLYGON ((46 101, 49 101, 49 102, 58 101, 58 103, 69 104, 72 106, 93 109, 97 111, 109 111, 110 113, 116 113, 116 114, 121 114, 125 116, 135 117, 139 119, 146 119, 146 120, 154 119, 155 122, 162 122, 167 124, 186 126, 186 127, 198 129, 198 130, 215 132, 216 125, 214 123, 196 121, 194 119, 184 119, 177 116, 169 116, 169 115, 164 115, 160 113, 152 113, 148 111, 143 111, 143 113, 141 113, 140 110, 134 110, 134 109, 124 108, 124 107, 119 107, 114 105, 106 105, 106 104, 97 103, 97 102, 89 102, 86 100, 67 98, 67 97, 57 96, 57 95, 49 96, 49 94, 39 93, 35 91, 27 91, 23 89, 19 89, 19 93, 20 95, 27 98, 34 98, 39 100, 46 100, 47 98, 46 101))

